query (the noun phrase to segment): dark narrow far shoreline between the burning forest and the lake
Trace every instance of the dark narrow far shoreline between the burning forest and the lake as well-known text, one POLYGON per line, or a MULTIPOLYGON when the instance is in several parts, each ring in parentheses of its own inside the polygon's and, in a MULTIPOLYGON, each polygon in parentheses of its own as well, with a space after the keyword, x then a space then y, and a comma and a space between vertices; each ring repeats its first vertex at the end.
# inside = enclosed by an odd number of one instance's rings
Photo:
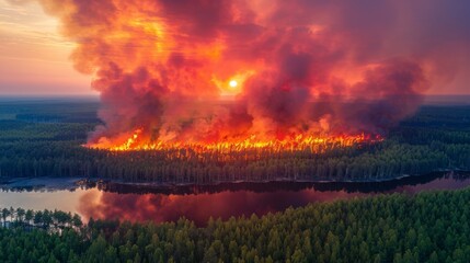
MULTIPOLYGON (((326 190, 346 190, 359 192, 387 191, 388 188, 401 185, 415 185, 425 183, 439 178, 448 176, 467 178, 470 171, 459 169, 440 169, 426 174, 403 174, 397 178, 386 178, 378 180, 291 180, 278 179, 270 181, 236 181, 217 182, 209 184, 194 183, 156 183, 156 182, 126 182, 110 179, 87 179, 87 178, 11 178, 0 180, 1 191, 34 191, 34 192, 54 192, 54 191, 76 191, 78 188, 98 187, 105 192, 116 193, 162 193, 162 194, 192 194, 192 193, 214 193, 220 191, 275 191, 290 190, 298 191, 302 188, 314 187, 319 191, 326 190)), ((458 179, 458 178, 457 178, 458 179)))

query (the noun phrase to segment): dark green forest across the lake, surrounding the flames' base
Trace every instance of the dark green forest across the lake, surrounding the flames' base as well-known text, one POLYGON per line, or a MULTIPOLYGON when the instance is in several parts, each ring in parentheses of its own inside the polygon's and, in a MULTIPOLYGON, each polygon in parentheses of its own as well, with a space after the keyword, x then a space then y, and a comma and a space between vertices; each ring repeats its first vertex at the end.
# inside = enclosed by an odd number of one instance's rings
POLYGON ((81 147, 100 123, 98 102, 0 103, 0 178, 77 176, 213 184, 376 181, 439 170, 470 170, 470 106, 424 106, 386 140, 347 148, 230 156, 191 150, 110 152, 81 147))

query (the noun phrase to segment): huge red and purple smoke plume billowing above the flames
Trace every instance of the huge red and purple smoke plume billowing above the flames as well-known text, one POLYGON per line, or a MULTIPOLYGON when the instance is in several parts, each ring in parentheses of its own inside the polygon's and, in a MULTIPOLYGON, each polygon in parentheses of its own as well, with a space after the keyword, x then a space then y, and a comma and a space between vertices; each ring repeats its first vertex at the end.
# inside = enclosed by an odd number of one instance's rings
POLYGON ((39 2, 101 93, 91 144, 386 133, 469 58, 468 1, 39 2))

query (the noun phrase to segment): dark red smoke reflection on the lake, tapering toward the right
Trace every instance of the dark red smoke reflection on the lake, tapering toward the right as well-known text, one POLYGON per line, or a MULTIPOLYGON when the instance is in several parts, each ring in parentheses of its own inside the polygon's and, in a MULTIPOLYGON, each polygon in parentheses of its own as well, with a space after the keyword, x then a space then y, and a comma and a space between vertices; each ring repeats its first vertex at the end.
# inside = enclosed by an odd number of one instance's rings
POLYGON ((186 217, 197 225, 209 217, 228 219, 231 216, 259 216, 298 207, 310 202, 324 202, 360 196, 360 193, 279 191, 275 193, 254 193, 249 191, 221 192, 215 194, 117 194, 90 191, 84 193, 78 211, 87 218, 119 219, 130 221, 153 220, 157 222, 177 220, 186 217))

